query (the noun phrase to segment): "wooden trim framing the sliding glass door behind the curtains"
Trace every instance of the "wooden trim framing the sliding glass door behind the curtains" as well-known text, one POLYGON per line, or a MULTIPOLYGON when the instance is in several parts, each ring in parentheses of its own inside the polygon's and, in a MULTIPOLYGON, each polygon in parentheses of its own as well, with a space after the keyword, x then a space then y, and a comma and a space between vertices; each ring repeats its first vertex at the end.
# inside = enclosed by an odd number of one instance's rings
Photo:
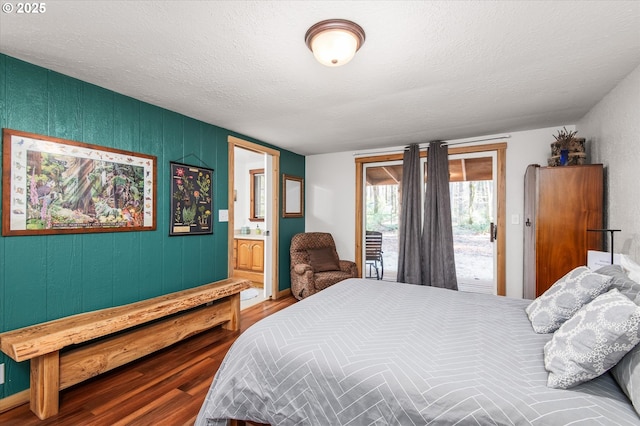
MULTIPOLYGON (((496 241, 496 292, 498 296, 505 296, 507 293, 506 285, 506 171, 507 171, 507 143, 493 143, 485 145, 471 145, 457 148, 450 148, 449 155, 456 154, 468 154, 472 152, 487 152, 496 151, 497 154, 497 170, 496 178, 498 183, 497 194, 497 234, 498 240, 496 241)), ((426 151, 420 151, 420 157, 426 157, 426 151)), ((363 274, 362 269, 362 236, 363 231, 363 173, 364 164, 366 163, 379 163, 383 161, 397 161, 402 160, 403 154, 385 154, 368 157, 359 157, 355 159, 356 162, 356 265, 360 271, 360 276, 363 274)))

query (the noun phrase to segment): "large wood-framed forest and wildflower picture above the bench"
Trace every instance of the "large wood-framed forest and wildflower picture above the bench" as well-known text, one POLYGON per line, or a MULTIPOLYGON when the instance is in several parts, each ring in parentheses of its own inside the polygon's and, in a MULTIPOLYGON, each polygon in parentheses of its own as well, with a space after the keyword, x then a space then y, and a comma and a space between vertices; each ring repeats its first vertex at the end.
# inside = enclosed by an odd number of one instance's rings
POLYGON ((156 229, 156 157, 2 132, 2 235, 156 229))

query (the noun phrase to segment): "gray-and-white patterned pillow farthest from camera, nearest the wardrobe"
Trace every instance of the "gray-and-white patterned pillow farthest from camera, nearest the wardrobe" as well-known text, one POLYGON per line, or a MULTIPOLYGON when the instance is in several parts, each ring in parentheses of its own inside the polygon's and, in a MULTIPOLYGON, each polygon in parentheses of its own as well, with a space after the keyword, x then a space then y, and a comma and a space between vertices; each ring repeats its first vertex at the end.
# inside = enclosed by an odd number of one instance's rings
POLYGON ((555 282, 527 306, 536 333, 553 333, 583 305, 609 289, 611 277, 580 266, 555 282))

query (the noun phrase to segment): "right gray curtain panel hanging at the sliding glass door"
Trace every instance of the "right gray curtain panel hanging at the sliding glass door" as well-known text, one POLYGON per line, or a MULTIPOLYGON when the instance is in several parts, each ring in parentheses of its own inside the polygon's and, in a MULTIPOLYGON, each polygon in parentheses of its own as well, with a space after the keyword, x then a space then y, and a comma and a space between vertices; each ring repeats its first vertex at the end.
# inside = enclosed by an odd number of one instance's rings
POLYGON ((427 173, 422 230, 423 283, 457 290, 449 194, 449 149, 442 142, 429 142, 427 173))

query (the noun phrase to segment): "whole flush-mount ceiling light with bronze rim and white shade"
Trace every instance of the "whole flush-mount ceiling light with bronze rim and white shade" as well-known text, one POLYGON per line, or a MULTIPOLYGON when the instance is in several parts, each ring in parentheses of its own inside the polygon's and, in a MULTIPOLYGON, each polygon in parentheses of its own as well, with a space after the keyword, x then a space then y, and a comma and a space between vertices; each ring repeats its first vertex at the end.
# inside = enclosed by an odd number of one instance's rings
POLYGON ((304 41, 322 65, 339 67, 349 62, 364 43, 364 30, 346 19, 327 19, 307 31, 304 41))

